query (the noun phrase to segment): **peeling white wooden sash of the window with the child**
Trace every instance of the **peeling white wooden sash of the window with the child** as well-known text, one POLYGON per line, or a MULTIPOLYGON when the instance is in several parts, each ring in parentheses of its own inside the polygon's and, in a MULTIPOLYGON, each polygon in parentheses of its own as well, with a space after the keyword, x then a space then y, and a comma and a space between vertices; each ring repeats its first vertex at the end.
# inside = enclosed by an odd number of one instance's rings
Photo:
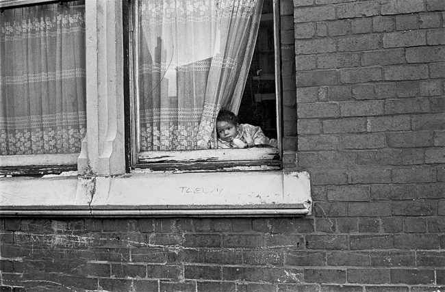
MULTIPOLYGON (((132 167, 140 163, 162 162, 199 162, 199 161, 270 161, 282 157, 281 146, 281 45, 279 40, 279 0, 273 0, 273 25, 275 49, 275 111, 277 112, 277 141, 278 147, 248 148, 248 149, 208 149, 208 150, 173 150, 173 151, 140 151, 140 114, 139 114, 139 77, 138 77, 138 40, 137 36, 137 1, 129 5, 129 97, 130 111, 129 123, 131 127, 130 138, 130 164, 132 167), (159 158, 162 157, 162 158, 159 158)), ((275 163, 274 163, 275 164, 275 163)))

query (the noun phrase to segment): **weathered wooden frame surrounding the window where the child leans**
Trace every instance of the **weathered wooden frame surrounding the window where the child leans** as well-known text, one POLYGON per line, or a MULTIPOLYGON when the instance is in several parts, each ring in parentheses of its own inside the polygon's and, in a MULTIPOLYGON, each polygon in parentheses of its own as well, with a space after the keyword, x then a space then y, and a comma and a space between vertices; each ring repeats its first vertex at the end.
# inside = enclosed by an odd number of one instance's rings
MULTIPOLYGON (((274 34, 274 69, 275 69, 275 111, 277 113, 277 148, 247 149, 208 149, 208 150, 173 150, 139 151, 138 127, 138 23, 133 17, 137 10, 137 1, 125 1, 124 12, 124 51, 125 51, 125 133, 127 133, 127 171, 144 170, 181 170, 181 171, 237 171, 237 170, 281 170, 282 169, 282 90, 281 90, 281 42, 280 11, 278 0, 273 5, 274 34), (247 156, 247 157, 246 157, 247 156)), ((261 20, 260 20, 261 21, 261 20)))

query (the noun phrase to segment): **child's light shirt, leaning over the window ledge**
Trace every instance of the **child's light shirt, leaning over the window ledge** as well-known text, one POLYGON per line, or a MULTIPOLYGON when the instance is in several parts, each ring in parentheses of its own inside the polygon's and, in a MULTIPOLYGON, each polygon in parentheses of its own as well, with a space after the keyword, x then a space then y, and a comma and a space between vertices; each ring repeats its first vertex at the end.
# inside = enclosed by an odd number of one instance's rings
MULTIPOLYGON (((258 126, 253 126, 251 124, 239 124, 238 134, 234 139, 239 139, 247 144, 247 147, 252 147, 255 145, 269 145, 277 147, 276 139, 269 139, 264 135, 262 129, 258 126)), ((218 138, 218 148, 238 148, 233 142, 226 142, 218 138)))

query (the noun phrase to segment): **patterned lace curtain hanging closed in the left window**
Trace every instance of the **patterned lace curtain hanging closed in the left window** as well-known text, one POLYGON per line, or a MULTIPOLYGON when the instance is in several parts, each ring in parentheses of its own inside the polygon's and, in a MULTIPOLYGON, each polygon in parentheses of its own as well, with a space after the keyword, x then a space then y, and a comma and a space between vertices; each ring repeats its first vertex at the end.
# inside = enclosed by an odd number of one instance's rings
POLYGON ((80 152, 84 1, 0 12, 0 155, 80 152))

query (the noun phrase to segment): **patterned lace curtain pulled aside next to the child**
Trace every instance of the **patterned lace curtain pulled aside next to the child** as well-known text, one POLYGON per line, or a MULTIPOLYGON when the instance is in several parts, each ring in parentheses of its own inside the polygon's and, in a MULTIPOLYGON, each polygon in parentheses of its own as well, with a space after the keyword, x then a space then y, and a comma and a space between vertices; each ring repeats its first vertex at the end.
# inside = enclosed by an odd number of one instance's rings
POLYGON ((238 112, 262 0, 139 0, 140 150, 212 148, 238 112))

